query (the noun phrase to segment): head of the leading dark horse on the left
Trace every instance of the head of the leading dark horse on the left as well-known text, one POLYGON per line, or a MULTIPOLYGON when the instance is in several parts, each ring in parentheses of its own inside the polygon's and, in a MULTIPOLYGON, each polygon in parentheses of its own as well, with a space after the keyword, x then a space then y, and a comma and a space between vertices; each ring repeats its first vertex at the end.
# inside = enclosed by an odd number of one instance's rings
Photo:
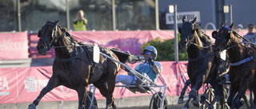
POLYGON ((38 53, 46 55, 47 51, 49 51, 57 41, 57 36, 59 34, 61 34, 61 32, 59 32, 58 21, 46 21, 46 24, 38 31, 38 53))

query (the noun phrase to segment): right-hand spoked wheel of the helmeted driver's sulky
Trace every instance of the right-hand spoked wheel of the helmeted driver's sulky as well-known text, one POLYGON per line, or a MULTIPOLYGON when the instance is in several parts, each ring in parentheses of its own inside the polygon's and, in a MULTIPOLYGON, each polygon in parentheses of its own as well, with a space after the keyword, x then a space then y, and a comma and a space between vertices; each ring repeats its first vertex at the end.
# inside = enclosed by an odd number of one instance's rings
POLYGON ((168 102, 166 100, 166 96, 162 101, 162 92, 158 91, 152 96, 150 100, 150 109, 161 109, 162 102, 163 102, 162 109, 167 109, 168 102))

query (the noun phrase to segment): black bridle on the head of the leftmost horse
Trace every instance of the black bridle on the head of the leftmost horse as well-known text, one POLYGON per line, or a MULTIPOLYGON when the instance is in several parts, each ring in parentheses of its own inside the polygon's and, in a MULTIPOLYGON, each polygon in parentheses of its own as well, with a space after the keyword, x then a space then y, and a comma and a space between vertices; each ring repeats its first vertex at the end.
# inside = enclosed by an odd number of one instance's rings
MULTIPOLYGON (((40 36, 40 37, 38 36, 38 37, 39 37, 39 40, 42 40, 42 41, 44 42, 44 47, 46 48, 46 50, 49 51, 50 48, 53 46, 52 43, 54 42, 55 38, 57 37, 56 34, 57 34, 57 32, 58 32, 58 28, 57 28, 57 25, 55 25, 55 27, 54 27, 54 25, 51 24, 49 21, 47 21, 45 25, 46 25, 46 26, 45 26, 45 28, 43 29, 43 32, 41 33, 41 36, 40 36), (45 34, 45 32, 46 32, 46 29, 47 29, 48 25, 54 27, 54 29, 52 30, 52 33, 51 33, 51 37, 52 37, 52 40, 51 40, 51 41, 46 40, 46 38, 44 37, 44 34, 45 34)), ((40 30, 39 30, 39 31, 40 31, 40 30)), ((39 33, 39 32, 38 32, 38 33, 39 33)))

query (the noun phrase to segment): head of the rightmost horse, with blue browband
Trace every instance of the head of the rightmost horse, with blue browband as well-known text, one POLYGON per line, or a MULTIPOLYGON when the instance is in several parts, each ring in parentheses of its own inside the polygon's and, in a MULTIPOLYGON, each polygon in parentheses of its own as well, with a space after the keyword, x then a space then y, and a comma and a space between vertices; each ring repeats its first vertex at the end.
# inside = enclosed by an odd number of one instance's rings
POLYGON ((235 39, 232 29, 234 27, 234 22, 230 26, 225 26, 222 22, 220 29, 212 32, 212 37, 215 39, 214 51, 215 53, 220 53, 222 50, 230 47, 230 41, 235 39))

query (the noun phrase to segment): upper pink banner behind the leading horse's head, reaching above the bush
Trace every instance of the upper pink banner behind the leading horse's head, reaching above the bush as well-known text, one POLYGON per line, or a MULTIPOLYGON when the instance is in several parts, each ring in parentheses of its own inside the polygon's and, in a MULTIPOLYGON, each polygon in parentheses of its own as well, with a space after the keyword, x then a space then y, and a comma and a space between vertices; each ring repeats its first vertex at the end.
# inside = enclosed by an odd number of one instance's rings
MULTIPOLYGON (((145 31, 71 31, 72 37, 85 44, 94 43, 106 48, 114 48, 116 45, 122 51, 129 51, 132 54, 140 54, 141 45, 150 40, 160 37, 162 40, 174 38, 174 31, 168 30, 145 30, 145 31)), ((30 57, 48 58, 54 57, 54 49, 50 49, 45 56, 38 54, 36 45, 38 45, 38 34, 29 34, 30 57)))

